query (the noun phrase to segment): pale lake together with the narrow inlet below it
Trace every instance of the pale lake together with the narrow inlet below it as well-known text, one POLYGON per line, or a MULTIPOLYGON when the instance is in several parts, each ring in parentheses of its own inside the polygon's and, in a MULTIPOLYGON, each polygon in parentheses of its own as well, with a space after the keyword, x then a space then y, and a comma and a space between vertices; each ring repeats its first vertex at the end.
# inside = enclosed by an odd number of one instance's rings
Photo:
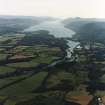
MULTIPOLYGON (((32 31, 38 31, 38 30, 47 30, 50 32, 50 34, 54 35, 55 37, 69 37, 71 38, 75 32, 73 30, 70 30, 66 27, 64 27, 64 24, 61 22, 61 20, 54 20, 54 21, 45 21, 41 24, 32 26, 25 31, 32 32, 32 31)), ((79 43, 68 40, 67 45, 69 48, 67 51, 67 57, 71 57, 71 53, 73 52, 73 49, 78 45, 79 43)))

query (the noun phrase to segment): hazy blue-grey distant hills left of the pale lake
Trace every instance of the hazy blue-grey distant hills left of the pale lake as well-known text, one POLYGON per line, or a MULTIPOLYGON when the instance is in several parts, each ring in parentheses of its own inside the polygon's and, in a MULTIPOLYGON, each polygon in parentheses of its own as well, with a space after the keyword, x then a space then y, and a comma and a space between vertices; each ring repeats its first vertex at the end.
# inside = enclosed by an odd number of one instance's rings
POLYGON ((30 26, 40 24, 44 21, 51 21, 51 17, 35 16, 0 16, 0 34, 18 33, 30 26))

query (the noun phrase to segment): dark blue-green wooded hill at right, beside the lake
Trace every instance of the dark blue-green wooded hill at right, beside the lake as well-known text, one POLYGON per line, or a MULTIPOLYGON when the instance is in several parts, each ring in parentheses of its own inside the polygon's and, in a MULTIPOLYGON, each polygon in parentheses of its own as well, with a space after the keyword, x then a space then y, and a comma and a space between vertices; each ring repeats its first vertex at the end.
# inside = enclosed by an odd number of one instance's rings
POLYGON ((81 45, 88 45, 90 48, 95 43, 105 44, 105 22, 88 23, 81 27, 74 36, 81 45))

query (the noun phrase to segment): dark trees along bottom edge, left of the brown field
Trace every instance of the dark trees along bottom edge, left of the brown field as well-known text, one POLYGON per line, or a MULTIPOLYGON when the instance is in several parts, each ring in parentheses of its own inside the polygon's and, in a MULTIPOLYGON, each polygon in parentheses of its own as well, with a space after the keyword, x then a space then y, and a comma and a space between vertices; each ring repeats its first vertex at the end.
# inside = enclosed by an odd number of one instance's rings
POLYGON ((62 100, 61 94, 51 93, 49 95, 37 95, 35 98, 23 101, 17 105, 65 105, 65 102, 62 100))

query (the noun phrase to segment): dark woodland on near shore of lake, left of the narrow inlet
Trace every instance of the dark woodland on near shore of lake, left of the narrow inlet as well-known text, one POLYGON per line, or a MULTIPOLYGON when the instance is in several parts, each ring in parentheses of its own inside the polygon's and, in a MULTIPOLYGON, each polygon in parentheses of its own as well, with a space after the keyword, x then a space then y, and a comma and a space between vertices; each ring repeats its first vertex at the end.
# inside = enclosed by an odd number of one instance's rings
POLYGON ((60 47, 62 50, 66 49, 67 41, 63 38, 55 38, 49 34, 48 31, 40 30, 36 32, 25 33, 26 36, 18 43, 21 45, 48 45, 50 47, 60 47))

